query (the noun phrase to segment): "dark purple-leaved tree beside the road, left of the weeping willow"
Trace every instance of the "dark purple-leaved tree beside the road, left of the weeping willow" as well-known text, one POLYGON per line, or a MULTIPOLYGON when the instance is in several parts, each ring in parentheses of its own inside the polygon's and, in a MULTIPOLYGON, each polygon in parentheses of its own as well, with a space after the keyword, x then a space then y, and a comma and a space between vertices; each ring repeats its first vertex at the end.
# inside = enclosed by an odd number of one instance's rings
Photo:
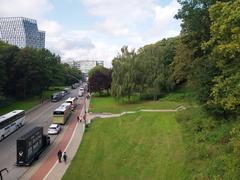
POLYGON ((102 91, 107 90, 109 94, 112 83, 112 72, 110 69, 98 65, 89 71, 88 76, 91 92, 98 92, 101 95, 102 91))

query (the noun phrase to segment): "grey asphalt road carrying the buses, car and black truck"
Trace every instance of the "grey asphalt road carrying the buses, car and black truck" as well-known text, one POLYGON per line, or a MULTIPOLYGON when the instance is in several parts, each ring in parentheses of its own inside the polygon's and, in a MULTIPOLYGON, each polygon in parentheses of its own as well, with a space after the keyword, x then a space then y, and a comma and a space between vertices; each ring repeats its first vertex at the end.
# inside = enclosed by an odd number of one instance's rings
MULTIPOLYGON (((77 96, 78 88, 74 89, 59 102, 48 102, 37 108, 36 110, 26 114, 25 125, 13 134, 9 135, 2 142, 0 142, 0 170, 7 168, 8 174, 3 173, 3 179, 15 180, 18 179, 28 167, 16 166, 16 140, 30 131, 35 126, 43 126, 44 134, 47 134, 47 129, 51 124, 53 111, 59 107, 64 100, 70 96, 77 96)), ((58 138, 57 135, 50 136, 51 141, 58 138)))

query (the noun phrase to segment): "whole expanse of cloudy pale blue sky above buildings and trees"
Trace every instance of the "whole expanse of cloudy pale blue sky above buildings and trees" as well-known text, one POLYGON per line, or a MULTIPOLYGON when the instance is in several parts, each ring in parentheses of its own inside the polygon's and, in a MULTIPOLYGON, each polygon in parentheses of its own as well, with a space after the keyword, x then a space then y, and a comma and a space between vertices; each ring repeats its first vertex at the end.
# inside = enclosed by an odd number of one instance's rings
POLYGON ((36 19, 62 61, 103 60, 180 33, 177 0, 0 0, 0 17, 36 19))

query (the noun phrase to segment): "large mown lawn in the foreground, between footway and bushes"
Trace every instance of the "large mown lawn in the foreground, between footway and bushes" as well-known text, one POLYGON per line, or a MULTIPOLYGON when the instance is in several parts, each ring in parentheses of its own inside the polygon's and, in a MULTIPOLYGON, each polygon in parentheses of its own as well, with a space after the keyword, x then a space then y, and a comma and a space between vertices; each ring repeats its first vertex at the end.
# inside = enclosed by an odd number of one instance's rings
POLYGON ((181 179, 185 151, 175 113, 94 121, 63 179, 181 179))

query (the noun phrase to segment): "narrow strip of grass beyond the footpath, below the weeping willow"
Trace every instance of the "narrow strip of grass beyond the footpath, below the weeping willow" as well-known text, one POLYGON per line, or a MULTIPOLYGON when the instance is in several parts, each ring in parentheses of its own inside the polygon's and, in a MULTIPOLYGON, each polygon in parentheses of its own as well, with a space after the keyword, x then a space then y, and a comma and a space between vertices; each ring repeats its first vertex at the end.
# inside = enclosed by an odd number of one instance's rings
POLYGON ((112 97, 93 97, 90 104, 90 112, 111 112, 120 113, 124 111, 140 110, 140 109, 176 109, 178 106, 187 103, 176 102, 168 99, 160 99, 158 101, 137 102, 134 104, 117 103, 112 97))

